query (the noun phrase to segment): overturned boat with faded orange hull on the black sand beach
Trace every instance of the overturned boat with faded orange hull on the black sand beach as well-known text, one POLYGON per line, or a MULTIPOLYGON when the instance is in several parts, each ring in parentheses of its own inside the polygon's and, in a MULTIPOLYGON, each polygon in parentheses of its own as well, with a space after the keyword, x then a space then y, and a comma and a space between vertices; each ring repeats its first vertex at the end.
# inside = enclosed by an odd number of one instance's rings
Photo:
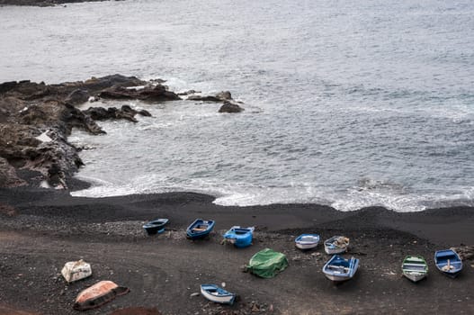
POLYGON ((119 286, 112 281, 101 281, 77 295, 74 309, 78 311, 95 309, 106 302, 111 302, 116 296, 129 292, 129 288, 119 286))

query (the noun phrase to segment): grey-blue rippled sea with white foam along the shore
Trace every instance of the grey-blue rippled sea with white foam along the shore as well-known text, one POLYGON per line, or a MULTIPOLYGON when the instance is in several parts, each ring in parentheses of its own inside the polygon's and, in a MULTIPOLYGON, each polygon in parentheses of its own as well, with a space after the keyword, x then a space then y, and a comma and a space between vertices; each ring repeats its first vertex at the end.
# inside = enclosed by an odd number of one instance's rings
MULTIPOLYGON (((224 205, 474 205, 471 1, 121 1, 0 7, 0 82, 114 73, 231 91, 76 130, 76 195, 193 191, 224 205)), ((96 104, 94 104, 96 105, 96 104)))

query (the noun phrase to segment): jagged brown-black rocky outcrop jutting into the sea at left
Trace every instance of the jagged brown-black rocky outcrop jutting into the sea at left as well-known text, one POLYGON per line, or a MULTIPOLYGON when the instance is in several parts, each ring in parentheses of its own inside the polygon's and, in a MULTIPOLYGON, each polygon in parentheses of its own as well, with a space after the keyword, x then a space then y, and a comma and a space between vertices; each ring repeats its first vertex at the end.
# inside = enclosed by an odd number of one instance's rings
POLYGON ((95 121, 123 119, 136 122, 137 114, 150 116, 128 105, 121 108, 76 105, 103 100, 139 100, 161 103, 181 100, 222 103, 219 112, 241 112, 230 93, 181 95, 168 91, 163 80, 143 81, 135 76, 92 77, 85 81, 46 85, 28 80, 0 84, 0 187, 31 185, 71 188, 72 176, 83 165, 80 148, 67 141, 73 128, 105 133, 95 121))

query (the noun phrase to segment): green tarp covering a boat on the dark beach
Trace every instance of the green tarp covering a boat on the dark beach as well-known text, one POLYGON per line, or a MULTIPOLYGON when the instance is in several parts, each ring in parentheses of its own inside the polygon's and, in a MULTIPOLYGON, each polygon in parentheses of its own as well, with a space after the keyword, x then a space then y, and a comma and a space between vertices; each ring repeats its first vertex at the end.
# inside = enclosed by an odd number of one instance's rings
POLYGON ((288 260, 282 253, 273 249, 265 248, 256 253, 247 266, 247 271, 262 278, 273 278, 278 273, 285 270, 288 260))

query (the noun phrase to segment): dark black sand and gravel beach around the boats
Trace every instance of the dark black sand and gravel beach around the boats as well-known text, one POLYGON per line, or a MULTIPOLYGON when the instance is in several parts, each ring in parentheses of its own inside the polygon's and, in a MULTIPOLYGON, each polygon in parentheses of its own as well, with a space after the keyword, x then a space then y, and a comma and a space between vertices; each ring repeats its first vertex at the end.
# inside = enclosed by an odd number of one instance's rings
POLYGON ((437 249, 474 243, 471 208, 341 212, 316 204, 222 207, 212 200, 197 193, 89 199, 42 189, 1 190, 0 313, 76 314, 76 294, 100 280, 127 286, 130 293, 88 314, 128 307, 163 314, 474 311, 474 261, 466 259, 456 279, 439 273, 433 261, 437 249), (147 236, 142 224, 157 217, 170 219, 168 229, 147 236), (216 220, 210 239, 185 238, 187 225, 198 217, 216 220), (232 225, 255 226, 253 246, 221 245, 221 235, 232 225), (328 259, 324 248, 301 252, 294 247, 302 232, 351 238, 345 257, 361 260, 353 280, 337 286, 328 281, 321 272, 328 259), (273 279, 243 273, 241 266, 265 247, 284 253, 290 266, 273 279), (406 255, 426 258, 427 279, 412 284, 401 276, 406 255), (79 258, 92 265, 93 276, 66 284, 60 270, 79 258), (202 283, 225 283, 238 294, 237 302, 220 306, 192 296, 202 283))

